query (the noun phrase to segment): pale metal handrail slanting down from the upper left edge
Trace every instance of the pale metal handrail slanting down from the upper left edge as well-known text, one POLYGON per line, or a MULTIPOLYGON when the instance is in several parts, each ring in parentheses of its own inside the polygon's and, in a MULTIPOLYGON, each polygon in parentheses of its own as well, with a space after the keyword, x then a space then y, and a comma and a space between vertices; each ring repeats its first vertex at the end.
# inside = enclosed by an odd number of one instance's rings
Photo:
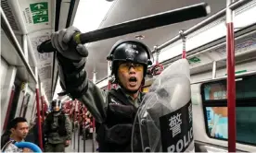
POLYGON ((21 59, 22 63, 25 65, 27 71, 29 72, 30 76, 32 76, 32 79, 34 83, 37 83, 37 79, 35 78, 35 75, 32 72, 31 66, 26 61, 26 58, 24 56, 24 53, 22 52, 21 47, 19 46, 19 41, 17 40, 13 30, 11 29, 11 26, 6 18, 6 14, 4 13, 2 7, 0 9, 1 12, 1 27, 4 29, 6 33, 6 37, 9 39, 9 41, 13 44, 14 48, 16 49, 16 52, 19 54, 19 58, 21 59))

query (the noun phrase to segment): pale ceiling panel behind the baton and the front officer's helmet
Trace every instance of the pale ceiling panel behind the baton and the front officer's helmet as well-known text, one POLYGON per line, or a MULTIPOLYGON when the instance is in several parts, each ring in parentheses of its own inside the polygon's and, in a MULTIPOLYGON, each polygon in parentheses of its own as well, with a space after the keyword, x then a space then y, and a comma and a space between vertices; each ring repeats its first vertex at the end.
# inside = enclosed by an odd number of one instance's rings
MULTIPOLYGON (((157 14, 160 12, 172 10, 183 6, 191 6, 201 2, 206 2, 211 6, 211 15, 225 7, 224 0, 118 0, 113 3, 109 9, 108 15, 104 18, 99 28, 109 27, 113 24, 121 23, 127 20, 142 18, 145 16, 157 14)), ((150 49, 154 45, 160 45, 165 41, 172 39, 181 29, 189 29, 205 18, 198 18, 158 29, 148 29, 113 39, 92 42, 88 45, 89 57, 86 64, 86 70, 90 79, 93 77, 94 66, 96 67, 96 80, 100 80, 108 74, 108 63, 106 57, 111 46, 122 38, 134 38, 135 35, 145 36, 144 41, 150 49)), ((84 22, 84 24, 88 24, 84 22)))

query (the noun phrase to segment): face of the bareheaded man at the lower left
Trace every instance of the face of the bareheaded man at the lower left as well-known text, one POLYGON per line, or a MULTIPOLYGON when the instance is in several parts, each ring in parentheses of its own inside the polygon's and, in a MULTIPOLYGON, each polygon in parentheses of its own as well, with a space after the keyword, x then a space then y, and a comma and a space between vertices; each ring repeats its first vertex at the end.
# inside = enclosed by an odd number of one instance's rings
POLYGON ((11 129, 12 135, 24 139, 29 133, 29 124, 27 122, 17 124, 16 128, 11 129))

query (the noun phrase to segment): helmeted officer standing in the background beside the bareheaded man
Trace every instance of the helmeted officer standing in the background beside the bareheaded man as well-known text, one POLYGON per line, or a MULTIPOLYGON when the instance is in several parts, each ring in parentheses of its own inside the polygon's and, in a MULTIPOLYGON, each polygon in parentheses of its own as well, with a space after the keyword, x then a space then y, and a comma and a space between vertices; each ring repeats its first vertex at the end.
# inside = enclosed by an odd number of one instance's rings
POLYGON ((61 111, 60 100, 52 101, 52 112, 45 119, 44 134, 46 137, 45 152, 64 152, 65 147, 70 145, 70 119, 61 111))

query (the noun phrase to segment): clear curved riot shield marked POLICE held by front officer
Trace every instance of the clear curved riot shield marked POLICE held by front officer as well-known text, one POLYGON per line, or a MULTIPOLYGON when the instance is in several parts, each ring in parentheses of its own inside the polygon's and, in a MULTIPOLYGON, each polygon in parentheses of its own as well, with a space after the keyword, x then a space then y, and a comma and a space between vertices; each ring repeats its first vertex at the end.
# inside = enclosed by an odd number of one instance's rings
POLYGON ((194 151, 190 94, 189 65, 181 59, 156 78, 142 101, 134 122, 133 151, 194 151))

